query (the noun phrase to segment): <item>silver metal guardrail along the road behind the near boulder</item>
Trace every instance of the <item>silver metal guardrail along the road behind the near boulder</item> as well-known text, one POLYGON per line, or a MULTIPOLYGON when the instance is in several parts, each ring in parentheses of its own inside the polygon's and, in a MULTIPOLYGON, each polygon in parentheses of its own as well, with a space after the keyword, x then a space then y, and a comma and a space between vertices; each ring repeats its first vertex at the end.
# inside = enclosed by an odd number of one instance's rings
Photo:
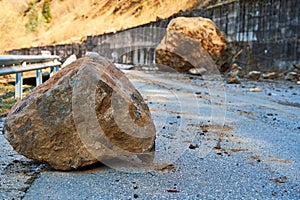
POLYGON ((22 99, 22 73, 36 70, 36 86, 42 84, 42 69, 50 67, 50 77, 58 71, 61 62, 54 55, 0 55, 0 76, 16 74, 15 98, 22 99))

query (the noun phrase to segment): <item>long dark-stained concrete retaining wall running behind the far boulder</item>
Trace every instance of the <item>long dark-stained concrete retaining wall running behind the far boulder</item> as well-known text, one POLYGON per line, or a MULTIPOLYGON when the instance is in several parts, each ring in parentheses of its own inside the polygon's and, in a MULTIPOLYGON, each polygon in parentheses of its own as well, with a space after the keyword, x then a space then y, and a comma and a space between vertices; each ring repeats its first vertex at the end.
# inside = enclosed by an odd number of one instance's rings
MULTIPOLYGON (((182 12, 169 19, 152 22, 139 27, 137 35, 150 34, 157 40, 156 33, 149 33, 153 27, 166 28, 171 19, 178 16, 211 18, 225 33, 236 51, 243 49, 237 62, 246 71, 284 71, 293 63, 300 63, 300 12, 298 0, 229 0, 192 12, 182 12), (149 29, 150 28, 150 29, 149 29)), ((119 32, 122 34, 122 32, 119 32)), ((113 54, 113 49, 104 41, 114 34, 88 36, 82 44, 68 44, 18 49, 9 54, 36 55, 41 50, 66 58, 75 54, 83 56, 86 51, 99 51, 112 60, 123 63, 149 64, 155 60, 154 48, 127 48, 123 55, 113 54), (98 48, 99 45, 101 48, 98 48), (111 49, 110 49, 111 48, 111 49), (109 50, 110 49, 110 50, 109 50), (117 55, 118 58, 114 58, 117 55)), ((160 36, 159 36, 160 37, 160 36)), ((131 38, 135 42, 134 38, 131 38)), ((145 40, 151 40, 145 37, 145 40)), ((121 41, 116 41, 116 43, 121 41)))

